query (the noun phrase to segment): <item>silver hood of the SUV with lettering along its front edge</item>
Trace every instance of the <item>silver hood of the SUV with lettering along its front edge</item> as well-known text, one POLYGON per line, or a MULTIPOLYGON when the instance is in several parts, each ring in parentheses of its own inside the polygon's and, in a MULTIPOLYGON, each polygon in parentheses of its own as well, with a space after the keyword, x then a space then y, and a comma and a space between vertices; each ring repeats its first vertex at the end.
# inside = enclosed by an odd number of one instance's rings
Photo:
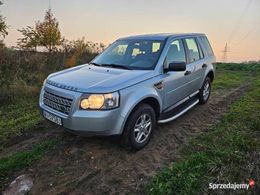
POLYGON ((51 74, 47 83, 84 93, 109 93, 154 77, 153 70, 125 70, 81 65, 51 74))

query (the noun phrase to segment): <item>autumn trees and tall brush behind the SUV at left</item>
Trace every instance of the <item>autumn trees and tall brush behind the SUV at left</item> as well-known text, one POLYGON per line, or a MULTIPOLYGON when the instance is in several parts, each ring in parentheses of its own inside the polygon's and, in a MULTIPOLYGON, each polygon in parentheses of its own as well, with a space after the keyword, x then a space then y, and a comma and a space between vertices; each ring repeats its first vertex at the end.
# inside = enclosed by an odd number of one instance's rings
POLYGON ((10 26, 6 21, 0 12, 0 104, 14 97, 38 96, 50 73, 87 63, 106 47, 84 37, 67 40, 50 9, 42 20, 18 29, 17 45, 7 47, 4 39, 10 26))

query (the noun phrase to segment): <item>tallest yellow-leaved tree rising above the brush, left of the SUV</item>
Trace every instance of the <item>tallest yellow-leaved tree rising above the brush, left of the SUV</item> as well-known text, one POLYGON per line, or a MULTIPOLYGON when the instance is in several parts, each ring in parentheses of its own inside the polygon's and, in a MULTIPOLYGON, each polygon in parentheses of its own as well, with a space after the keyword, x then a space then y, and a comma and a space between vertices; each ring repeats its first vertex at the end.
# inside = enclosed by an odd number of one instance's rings
POLYGON ((63 42, 59 22, 50 9, 45 13, 44 21, 36 23, 36 32, 39 36, 39 46, 45 47, 49 52, 54 51, 63 42))

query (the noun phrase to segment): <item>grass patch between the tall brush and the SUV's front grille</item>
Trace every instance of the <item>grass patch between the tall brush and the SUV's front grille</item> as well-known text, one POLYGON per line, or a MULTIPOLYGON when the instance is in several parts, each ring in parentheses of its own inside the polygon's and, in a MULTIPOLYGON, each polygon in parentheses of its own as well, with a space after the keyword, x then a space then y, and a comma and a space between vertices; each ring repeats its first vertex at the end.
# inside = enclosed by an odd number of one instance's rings
POLYGON ((0 143, 35 128, 42 121, 35 97, 17 98, 12 104, 0 106, 0 143))

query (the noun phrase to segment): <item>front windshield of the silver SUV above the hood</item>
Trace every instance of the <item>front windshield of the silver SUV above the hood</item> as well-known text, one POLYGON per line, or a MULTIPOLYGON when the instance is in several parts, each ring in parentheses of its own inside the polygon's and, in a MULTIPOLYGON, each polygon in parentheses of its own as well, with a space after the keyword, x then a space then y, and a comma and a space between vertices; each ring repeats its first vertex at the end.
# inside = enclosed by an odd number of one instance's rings
POLYGON ((151 70, 159 59, 163 45, 163 41, 119 40, 91 63, 113 68, 151 70))

